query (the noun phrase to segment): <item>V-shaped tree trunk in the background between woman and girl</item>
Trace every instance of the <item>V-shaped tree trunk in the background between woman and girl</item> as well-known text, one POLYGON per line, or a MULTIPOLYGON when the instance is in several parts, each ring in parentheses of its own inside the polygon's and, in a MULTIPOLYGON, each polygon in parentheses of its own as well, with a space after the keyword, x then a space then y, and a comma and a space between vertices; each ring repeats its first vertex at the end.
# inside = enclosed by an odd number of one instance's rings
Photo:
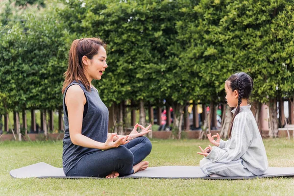
POLYGON ((174 112, 172 132, 177 139, 181 139, 184 105, 176 103, 172 105, 172 108, 174 112))

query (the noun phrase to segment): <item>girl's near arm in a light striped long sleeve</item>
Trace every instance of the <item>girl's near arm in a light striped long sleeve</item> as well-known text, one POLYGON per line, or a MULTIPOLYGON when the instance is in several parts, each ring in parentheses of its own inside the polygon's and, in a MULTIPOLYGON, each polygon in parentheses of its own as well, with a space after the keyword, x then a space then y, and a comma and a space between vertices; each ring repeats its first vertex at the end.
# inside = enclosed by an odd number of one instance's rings
POLYGON ((231 139, 225 144, 226 147, 212 147, 207 158, 212 162, 228 163, 246 153, 253 137, 246 124, 246 115, 246 113, 240 113, 235 117, 231 139))

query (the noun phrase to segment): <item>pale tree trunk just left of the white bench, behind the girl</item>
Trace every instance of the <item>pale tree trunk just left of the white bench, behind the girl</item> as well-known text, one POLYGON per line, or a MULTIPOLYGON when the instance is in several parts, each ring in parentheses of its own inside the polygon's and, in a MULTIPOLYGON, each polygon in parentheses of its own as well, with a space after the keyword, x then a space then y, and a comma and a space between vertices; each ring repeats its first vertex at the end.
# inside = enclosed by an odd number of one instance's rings
POLYGON ((277 100, 272 98, 269 101, 270 110, 270 138, 277 137, 278 135, 278 119, 277 119, 277 100))

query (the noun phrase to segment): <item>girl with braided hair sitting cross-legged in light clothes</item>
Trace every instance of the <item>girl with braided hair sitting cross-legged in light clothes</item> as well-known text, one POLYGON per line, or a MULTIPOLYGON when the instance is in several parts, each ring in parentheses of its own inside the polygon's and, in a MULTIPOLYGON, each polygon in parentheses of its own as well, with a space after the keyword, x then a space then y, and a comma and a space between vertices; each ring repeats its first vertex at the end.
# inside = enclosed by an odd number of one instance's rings
POLYGON ((230 124, 229 140, 208 134, 210 145, 197 154, 203 155, 200 169, 211 177, 250 177, 262 175, 268 169, 266 150, 255 118, 247 100, 252 92, 253 80, 246 73, 235 73, 225 81, 226 100, 234 116, 230 124), (217 137, 215 141, 214 138, 217 137))

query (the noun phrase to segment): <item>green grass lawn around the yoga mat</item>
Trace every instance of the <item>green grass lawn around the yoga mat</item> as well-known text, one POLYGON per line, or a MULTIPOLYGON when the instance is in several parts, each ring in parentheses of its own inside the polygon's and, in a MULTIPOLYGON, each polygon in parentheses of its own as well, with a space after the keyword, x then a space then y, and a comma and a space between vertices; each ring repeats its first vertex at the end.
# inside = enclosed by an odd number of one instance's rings
MULTIPOLYGON (((146 158, 154 166, 199 166, 198 146, 208 140, 152 140, 146 158)), ((264 140, 270 167, 294 167, 294 141, 264 140)), ((9 171, 46 162, 62 167, 62 142, 0 143, 0 195, 294 195, 294 178, 201 179, 14 179, 9 171)))

